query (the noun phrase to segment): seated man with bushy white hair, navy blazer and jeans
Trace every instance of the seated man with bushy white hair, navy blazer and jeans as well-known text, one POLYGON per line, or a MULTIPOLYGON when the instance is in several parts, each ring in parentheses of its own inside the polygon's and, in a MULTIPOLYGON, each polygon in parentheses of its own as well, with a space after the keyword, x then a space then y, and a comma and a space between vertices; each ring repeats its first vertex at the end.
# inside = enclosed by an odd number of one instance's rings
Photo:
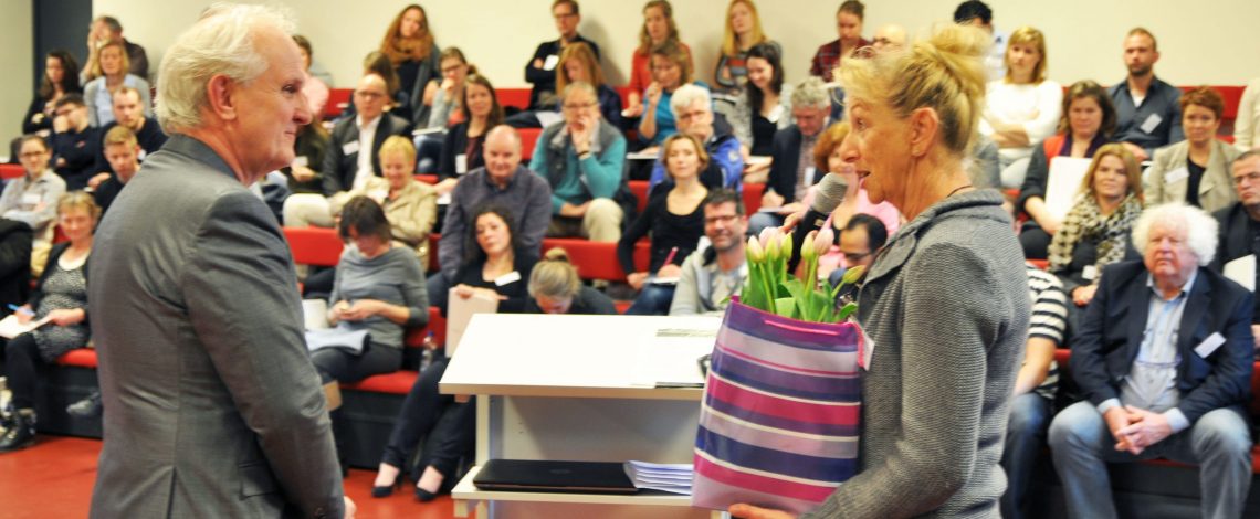
POLYGON ((1206 268, 1216 220, 1173 203, 1133 229, 1143 261, 1102 270, 1072 378, 1086 401, 1050 426, 1068 515, 1114 518, 1108 462, 1200 466, 1202 515, 1239 518, 1251 484, 1251 292, 1206 268))

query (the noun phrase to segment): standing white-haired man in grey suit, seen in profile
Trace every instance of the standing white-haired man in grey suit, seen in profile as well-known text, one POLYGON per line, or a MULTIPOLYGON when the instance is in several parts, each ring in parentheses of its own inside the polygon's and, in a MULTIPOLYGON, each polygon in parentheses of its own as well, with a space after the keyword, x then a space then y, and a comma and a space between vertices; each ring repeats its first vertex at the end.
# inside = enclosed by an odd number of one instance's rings
POLYGON ((353 515, 284 234, 248 185, 311 121, 292 23, 215 5, 161 63, 171 132, 97 229, 92 516, 353 515))

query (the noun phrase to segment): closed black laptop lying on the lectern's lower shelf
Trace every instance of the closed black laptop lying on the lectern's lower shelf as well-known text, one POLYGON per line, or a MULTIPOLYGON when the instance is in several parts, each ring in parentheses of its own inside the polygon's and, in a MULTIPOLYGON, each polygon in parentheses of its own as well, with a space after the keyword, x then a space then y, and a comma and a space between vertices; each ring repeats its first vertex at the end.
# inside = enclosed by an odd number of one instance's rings
POLYGON ((620 462, 490 460, 472 484, 481 490, 573 494, 638 491, 620 462))

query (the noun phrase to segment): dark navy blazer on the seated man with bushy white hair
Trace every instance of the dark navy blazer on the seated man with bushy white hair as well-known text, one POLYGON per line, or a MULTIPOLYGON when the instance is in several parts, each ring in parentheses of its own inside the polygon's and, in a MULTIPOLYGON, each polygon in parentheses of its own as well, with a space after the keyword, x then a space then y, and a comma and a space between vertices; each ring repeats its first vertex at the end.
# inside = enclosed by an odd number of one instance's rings
MULTIPOLYGON (((1120 384, 1142 348, 1150 307, 1148 271, 1140 261, 1102 270, 1080 334, 1072 339, 1072 378, 1095 406, 1120 396, 1120 384)), ((1210 268, 1200 268, 1177 335, 1181 409, 1194 423, 1203 413, 1250 402, 1254 341, 1251 292, 1210 268), (1225 344, 1207 358, 1194 353, 1212 334, 1225 344)))

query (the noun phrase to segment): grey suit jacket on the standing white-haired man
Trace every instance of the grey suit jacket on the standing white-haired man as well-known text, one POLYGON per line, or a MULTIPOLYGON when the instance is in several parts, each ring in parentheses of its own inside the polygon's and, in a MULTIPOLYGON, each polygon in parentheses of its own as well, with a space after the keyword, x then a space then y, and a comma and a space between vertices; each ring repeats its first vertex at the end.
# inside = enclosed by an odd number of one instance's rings
POLYGON ((208 146, 173 135, 96 236, 92 516, 340 518, 292 261, 262 200, 208 146))

